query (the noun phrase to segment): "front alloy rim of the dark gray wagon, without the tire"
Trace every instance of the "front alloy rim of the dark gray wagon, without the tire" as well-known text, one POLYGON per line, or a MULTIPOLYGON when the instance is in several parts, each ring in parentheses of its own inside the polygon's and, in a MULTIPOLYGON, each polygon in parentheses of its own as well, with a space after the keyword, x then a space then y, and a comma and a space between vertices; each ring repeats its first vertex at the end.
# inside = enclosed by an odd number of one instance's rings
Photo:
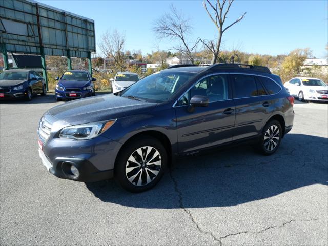
POLYGON ((160 153, 154 147, 144 146, 135 150, 126 163, 126 176, 135 186, 145 186, 158 175, 162 165, 160 153))

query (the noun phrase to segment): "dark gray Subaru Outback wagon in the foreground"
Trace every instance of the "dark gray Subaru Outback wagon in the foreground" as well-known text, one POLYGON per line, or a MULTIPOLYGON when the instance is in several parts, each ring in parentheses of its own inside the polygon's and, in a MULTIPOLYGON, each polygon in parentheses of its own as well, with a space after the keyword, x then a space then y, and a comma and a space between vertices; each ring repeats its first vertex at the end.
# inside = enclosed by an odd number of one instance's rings
POLYGON ((121 92, 48 110, 39 156, 59 178, 115 177, 145 191, 178 156, 245 140, 273 154, 292 129, 293 104, 267 67, 176 65, 121 92))

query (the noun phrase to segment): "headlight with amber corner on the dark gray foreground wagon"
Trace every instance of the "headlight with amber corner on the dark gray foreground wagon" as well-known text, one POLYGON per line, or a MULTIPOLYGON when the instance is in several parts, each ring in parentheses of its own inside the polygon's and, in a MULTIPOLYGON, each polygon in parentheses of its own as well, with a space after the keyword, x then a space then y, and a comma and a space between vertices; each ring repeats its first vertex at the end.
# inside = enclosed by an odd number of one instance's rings
POLYGON ((96 122, 83 125, 65 127, 61 129, 59 137, 85 140, 94 138, 110 128, 116 119, 106 122, 96 122))

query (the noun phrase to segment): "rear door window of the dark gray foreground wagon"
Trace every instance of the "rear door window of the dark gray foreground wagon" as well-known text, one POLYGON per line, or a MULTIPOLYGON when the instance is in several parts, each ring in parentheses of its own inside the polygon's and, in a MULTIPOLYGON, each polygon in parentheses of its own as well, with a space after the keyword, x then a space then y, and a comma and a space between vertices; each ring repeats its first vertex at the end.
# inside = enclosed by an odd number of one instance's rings
POLYGON ((232 75, 232 83, 235 88, 234 98, 257 96, 255 78, 252 75, 232 75))

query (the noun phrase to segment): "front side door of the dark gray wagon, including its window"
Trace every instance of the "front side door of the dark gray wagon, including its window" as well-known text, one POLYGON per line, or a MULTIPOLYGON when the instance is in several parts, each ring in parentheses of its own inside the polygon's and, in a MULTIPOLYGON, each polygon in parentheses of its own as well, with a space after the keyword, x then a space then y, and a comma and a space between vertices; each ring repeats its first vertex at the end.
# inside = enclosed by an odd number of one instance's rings
POLYGON ((229 76, 210 75, 201 79, 175 106, 179 153, 188 153, 232 140, 235 105, 229 76), (189 105, 194 95, 208 96, 207 107, 189 105))

